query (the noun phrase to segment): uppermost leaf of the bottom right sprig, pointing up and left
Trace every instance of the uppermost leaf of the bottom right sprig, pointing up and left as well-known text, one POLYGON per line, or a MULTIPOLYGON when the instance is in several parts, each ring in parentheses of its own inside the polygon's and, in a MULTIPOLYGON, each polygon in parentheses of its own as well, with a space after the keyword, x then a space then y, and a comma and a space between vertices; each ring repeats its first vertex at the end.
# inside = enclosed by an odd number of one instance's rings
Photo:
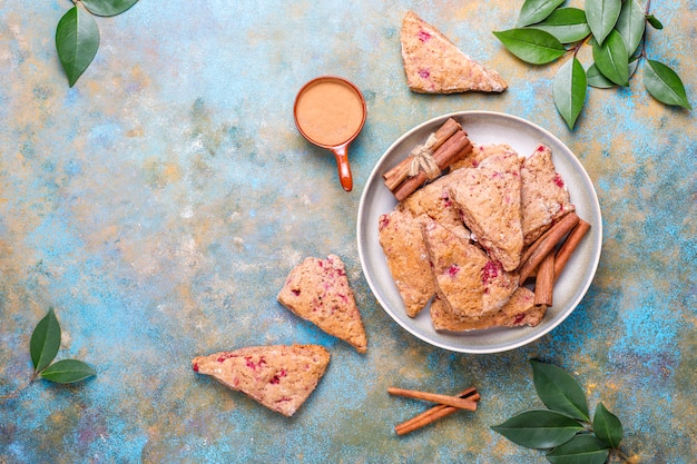
MULTIPOLYGON (((581 67, 580 63, 578 66, 581 67)), ((547 407, 579 421, 589 419, 586 395, 573 377, 551 364, 537 359, 530 359, 530 364, 534 388, 547 407)))

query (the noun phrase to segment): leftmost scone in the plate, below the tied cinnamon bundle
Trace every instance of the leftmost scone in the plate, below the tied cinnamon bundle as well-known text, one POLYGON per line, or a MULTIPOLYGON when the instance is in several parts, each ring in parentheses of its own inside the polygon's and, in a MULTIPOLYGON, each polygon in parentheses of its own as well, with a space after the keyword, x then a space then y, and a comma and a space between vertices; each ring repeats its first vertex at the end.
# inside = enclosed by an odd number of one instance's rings
POLYGON ((401 210, 382 215, 379 237, 406 315, 415 317, 435 295, 420 219, 401 210))

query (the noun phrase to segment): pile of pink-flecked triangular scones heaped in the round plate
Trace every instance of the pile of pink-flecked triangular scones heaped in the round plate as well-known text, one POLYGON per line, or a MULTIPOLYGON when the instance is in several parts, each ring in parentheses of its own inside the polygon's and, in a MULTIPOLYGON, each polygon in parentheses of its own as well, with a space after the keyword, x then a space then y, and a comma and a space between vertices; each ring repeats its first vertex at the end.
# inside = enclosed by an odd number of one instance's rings
POLYGON ((380 244, 410 317, 430 303, 436 330, 536 326, 547 308, 519 283, 521 256, 573 210, 549 147, 473 144, 380 217, 380 244))

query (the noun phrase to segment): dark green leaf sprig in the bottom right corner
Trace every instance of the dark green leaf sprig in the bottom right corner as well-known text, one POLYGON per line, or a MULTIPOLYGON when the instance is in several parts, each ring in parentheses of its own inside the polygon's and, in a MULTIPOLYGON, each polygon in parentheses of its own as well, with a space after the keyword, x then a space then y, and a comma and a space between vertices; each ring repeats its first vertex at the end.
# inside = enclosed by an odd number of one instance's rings
POLYGON ((620 451, 622 424, 602 403, 591 417, 580 385, 568 373, 537 359, 530 361, 538 396, 548 409, 522 412, 491 428, 511 442, 548 450, 553 464, 602 464, 612 453, 629 462, 620 451))

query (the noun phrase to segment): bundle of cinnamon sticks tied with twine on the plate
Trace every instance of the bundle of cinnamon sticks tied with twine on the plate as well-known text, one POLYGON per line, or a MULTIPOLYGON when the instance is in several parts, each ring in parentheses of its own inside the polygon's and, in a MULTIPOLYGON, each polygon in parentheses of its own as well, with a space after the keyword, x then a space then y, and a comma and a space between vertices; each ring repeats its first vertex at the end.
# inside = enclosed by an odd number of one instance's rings
POLYGON ((423 185, 444 174, 450 165, 463 158, 472 150, 472 142, 462 130, 462 126, 449 118, 424 145, 414 147, 414 150, 397 166, 383 174, 385 186, 392 191, 397 201, 402 201, 423 185), (436 171, 429 169, 413 169, 419 156, 429 158, 435 165, 436 171))

